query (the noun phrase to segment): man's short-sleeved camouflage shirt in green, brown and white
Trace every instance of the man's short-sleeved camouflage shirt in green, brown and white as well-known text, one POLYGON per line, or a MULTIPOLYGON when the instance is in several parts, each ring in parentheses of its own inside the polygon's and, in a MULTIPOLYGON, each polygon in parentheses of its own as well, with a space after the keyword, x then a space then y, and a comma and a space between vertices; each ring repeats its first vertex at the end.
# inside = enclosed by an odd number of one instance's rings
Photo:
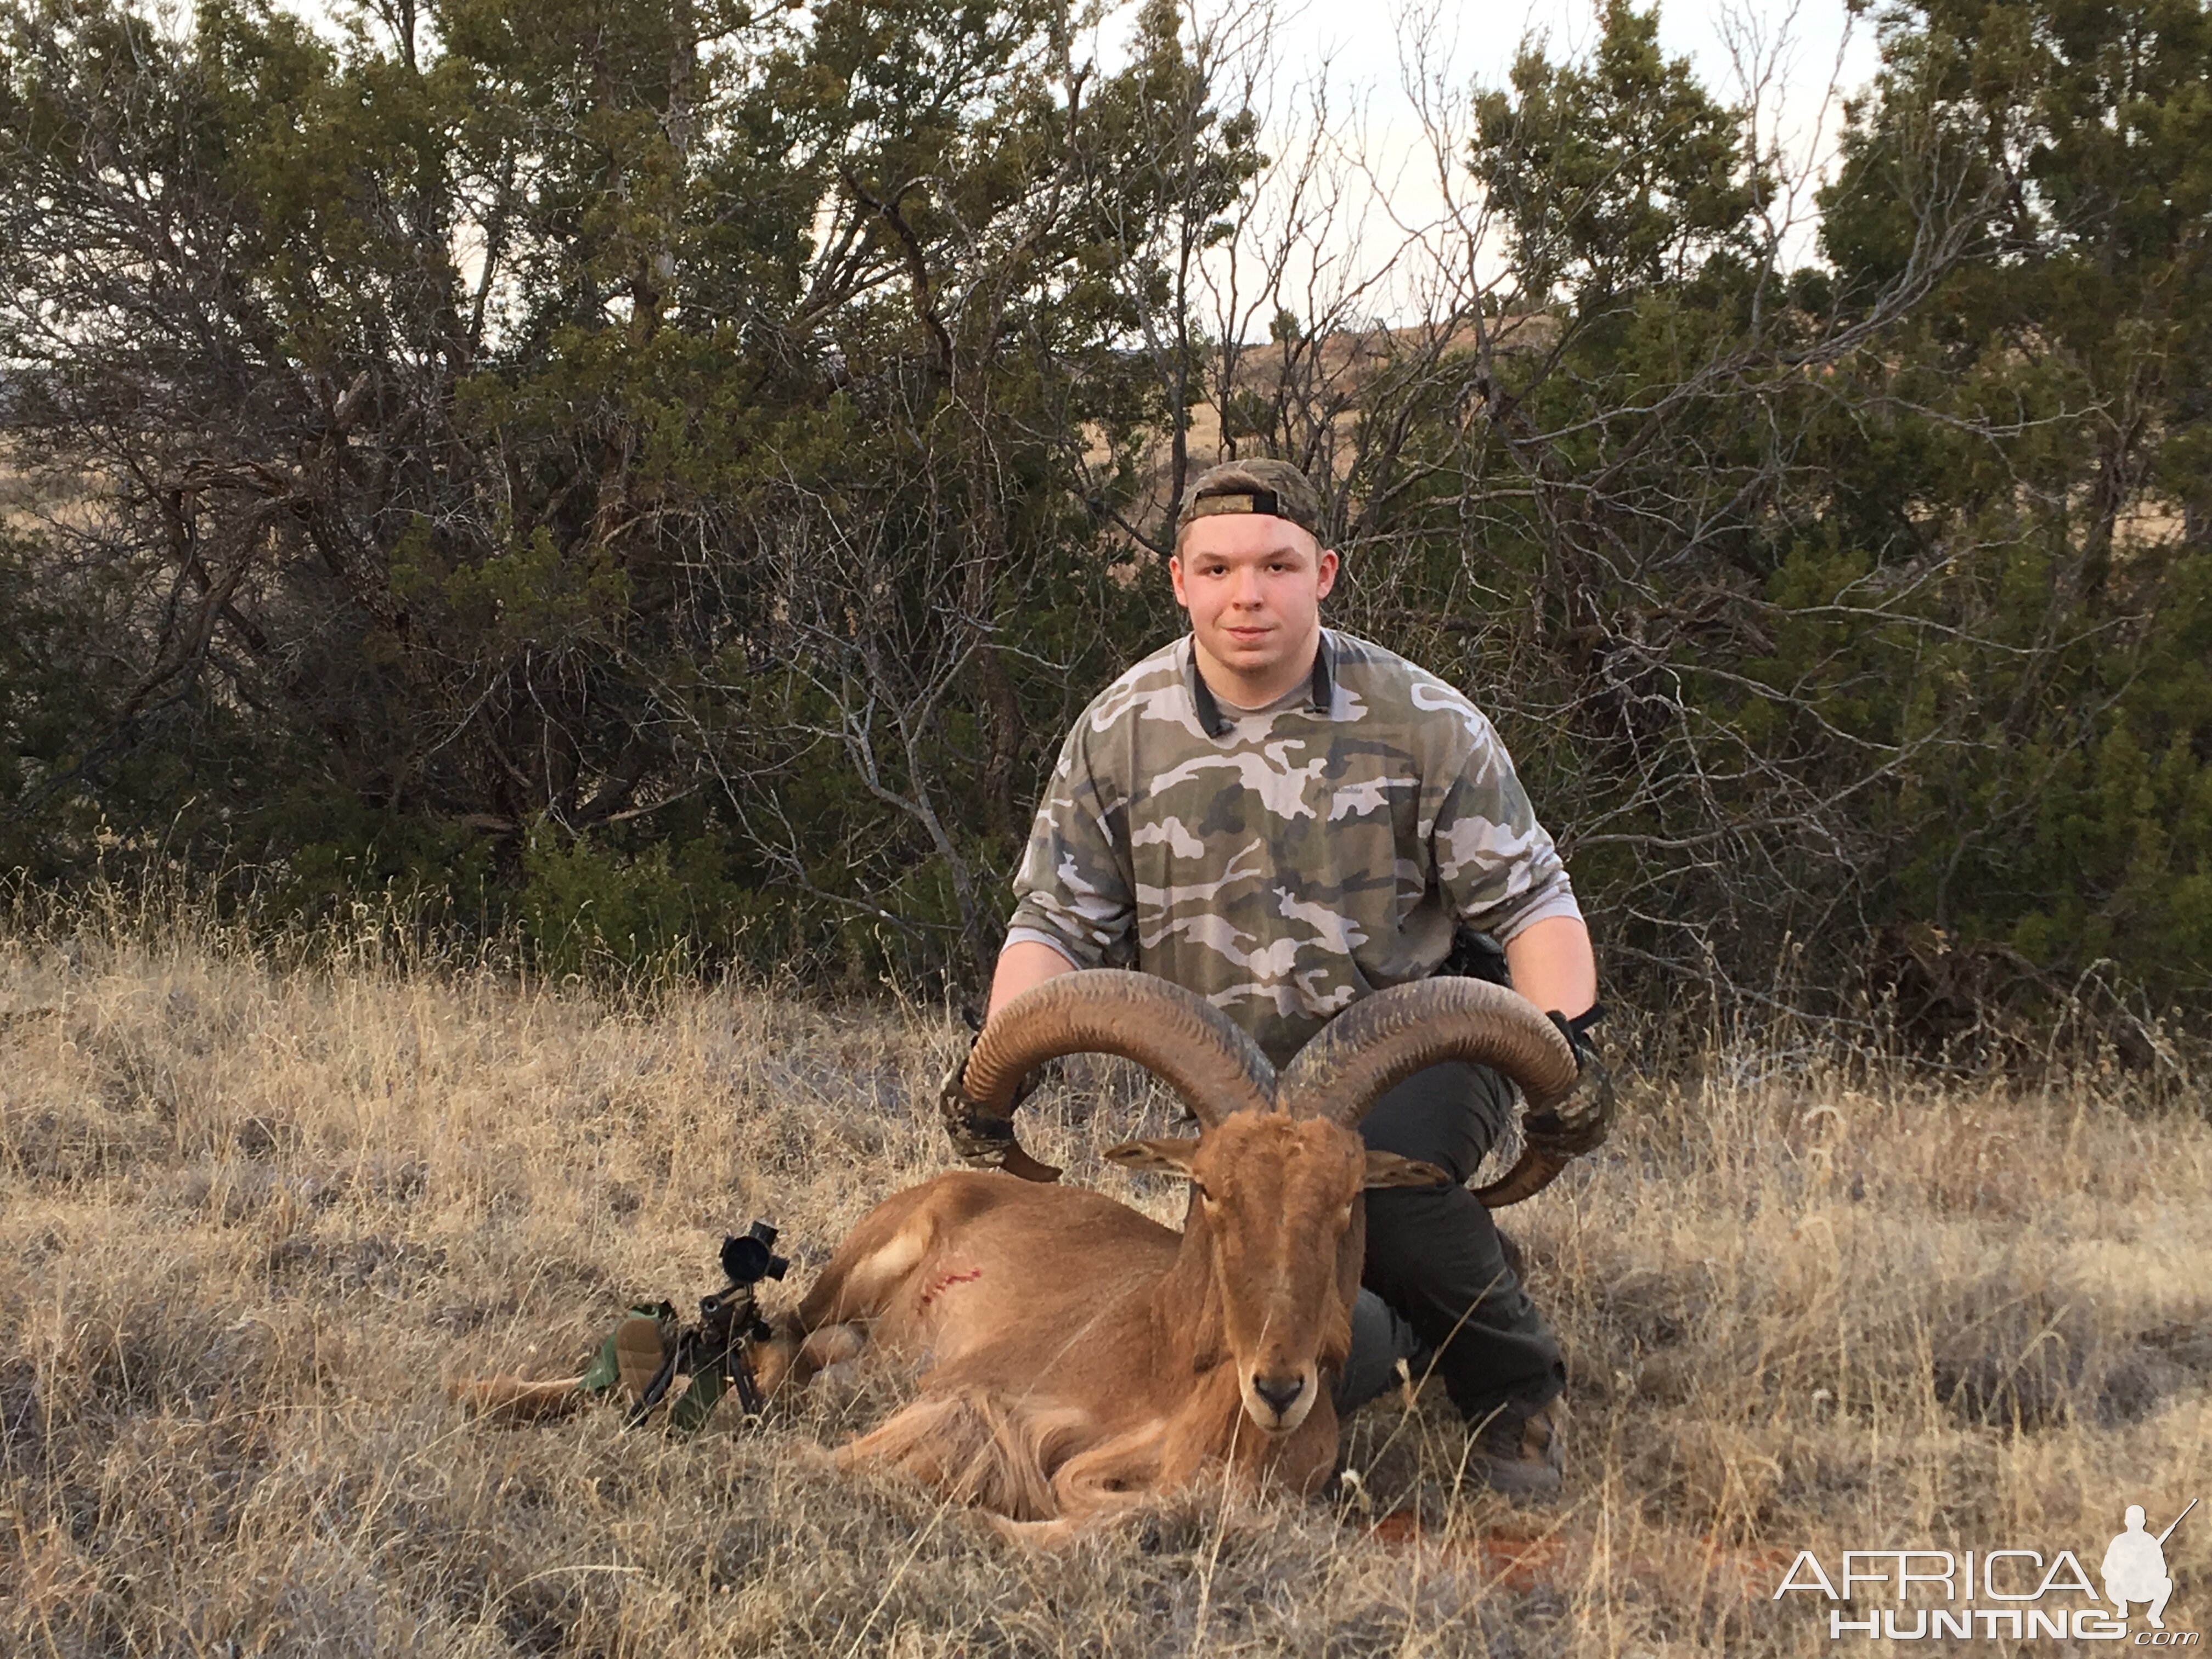
POLYGON ((1261 710, 1214 699, 1188 635, 1099 692, 1013 889, 1009 942, 1175 980, 1276 1064, 1433 973, 1458 922, 1582 914, 1489 719, 1332 628, 1305 692, 1261 710))

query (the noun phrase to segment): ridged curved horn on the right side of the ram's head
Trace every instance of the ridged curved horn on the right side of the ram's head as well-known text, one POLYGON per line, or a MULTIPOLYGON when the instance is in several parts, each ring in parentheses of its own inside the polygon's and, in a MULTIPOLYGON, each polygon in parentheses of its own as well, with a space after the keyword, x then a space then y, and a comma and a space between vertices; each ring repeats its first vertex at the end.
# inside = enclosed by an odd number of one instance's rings
MULTIPOLYGON (((1336 1015, 1283 1068, 1276 1097, 1292 1117, 1356 1126, 1383 1091, 1444 1060, 1495 1066, 1540 1113, 1575 1086, 1575 1051, 1537 1006, 1502 984, 1438 978, 1394 984, 1336 1015)), ((1475 1190, 1491 1210, 1540 1192, 1566 1159, 1526 1146, 1475 1190)))

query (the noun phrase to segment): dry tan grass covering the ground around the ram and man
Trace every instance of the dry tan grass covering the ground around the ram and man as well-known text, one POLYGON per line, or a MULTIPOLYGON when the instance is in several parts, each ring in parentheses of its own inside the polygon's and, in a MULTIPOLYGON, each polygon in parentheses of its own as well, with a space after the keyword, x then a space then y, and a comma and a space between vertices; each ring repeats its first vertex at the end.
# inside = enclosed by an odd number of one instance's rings
MULTIPOLYGON (((951 1042, 398 969, 374 933, 321 967, 192 922, 0 938, 0 1650, 1834 1650, 1767 1599, 1798 1546, 2095 1564, 2121 1502, 2212 1486, 2212 1128, 2110 1077, 1805 1057, 1639 1088, 1517 1212, 1575 1367, 1553 1509, 1455 1489, 1447 1413, 1383 1402, 1347 1436, 1365 1511, 1201 1495, 1040 1557, 823 1469, 889 1383, 681 1447, 447 1405, 708 1290, 754 1214, 796 1287, 940 1168, 951 1042)), ((1037 1150, 1115 1190, 1082 1119, 1164 1115, 1106 1068, 1037 1106, 1037 1150)), ((2168 1546, 2179 1628, 2208 1540, 2168 1546)))

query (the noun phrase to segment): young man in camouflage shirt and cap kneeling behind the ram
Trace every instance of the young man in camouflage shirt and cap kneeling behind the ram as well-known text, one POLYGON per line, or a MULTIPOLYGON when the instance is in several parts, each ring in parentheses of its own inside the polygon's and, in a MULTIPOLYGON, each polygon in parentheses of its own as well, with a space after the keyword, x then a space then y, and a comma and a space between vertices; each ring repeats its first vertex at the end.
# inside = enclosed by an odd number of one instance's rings
MULTIPOLYGON (((1068 734, 993 1013, 1055 973, 1139 967, 1210 998, 1281 1066, 1360 995, 1436 973, 1455 931, 1498 938, 1513 987, 1562 1024, 1593 1013, 1590 936, 1504 745, 1444 681, 1321 626, 1336 553, 1318 533, 1321 500, 1287 462, 1197 480, 1168 562, 1190 633, 1068 734)), ((1464 1183, 1511 1095, 1486 1068, 1436 1066, 1360 1133, 1464 1183)), ((1360 1296, 1340 1405, 1387 1385, 1409 1325, 1478 1431, 1478 1471, 1555 1491, 1559 1347, 1473 1192, 1369 1192, 1365 1285, 1380 1303, 1360 1296)))

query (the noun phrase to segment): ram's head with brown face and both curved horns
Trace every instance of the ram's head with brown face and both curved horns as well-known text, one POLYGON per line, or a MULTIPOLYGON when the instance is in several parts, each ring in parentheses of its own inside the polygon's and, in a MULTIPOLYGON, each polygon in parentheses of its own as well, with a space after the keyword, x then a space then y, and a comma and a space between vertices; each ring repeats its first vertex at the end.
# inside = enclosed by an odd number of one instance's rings
MULTIPOLYGON (((1210 1002, 1146 973, 1064 973, 1009 1002, 969 1057, 964 1093, 1004 1113, 1044 1060, 1117 1053, 1190 1106, 1197 1137, 1106 1152, 1130 1170, 1192 1183, 1186 1250, 1210 1252, 1223 1340, 1245 1416, 1290 1433, 1343 1367, 1360 1283, 1360 1192, 1438 1186, 1429 1164, 1371 1152, 1367 1108, 1444 1060, 1498 1066, 1542 1108, 1575 1082, 1575 1055, 1528 1002, 1480 980, 1425 980, 1356 1002, 1276 1077, 1259 1046, 1210 1002)), ((1526 1197, 1528 1159, 1502 1181, 1526 1197)), ((1553 1166, 1555 1168, 1555 1166, 1553 1166)))

